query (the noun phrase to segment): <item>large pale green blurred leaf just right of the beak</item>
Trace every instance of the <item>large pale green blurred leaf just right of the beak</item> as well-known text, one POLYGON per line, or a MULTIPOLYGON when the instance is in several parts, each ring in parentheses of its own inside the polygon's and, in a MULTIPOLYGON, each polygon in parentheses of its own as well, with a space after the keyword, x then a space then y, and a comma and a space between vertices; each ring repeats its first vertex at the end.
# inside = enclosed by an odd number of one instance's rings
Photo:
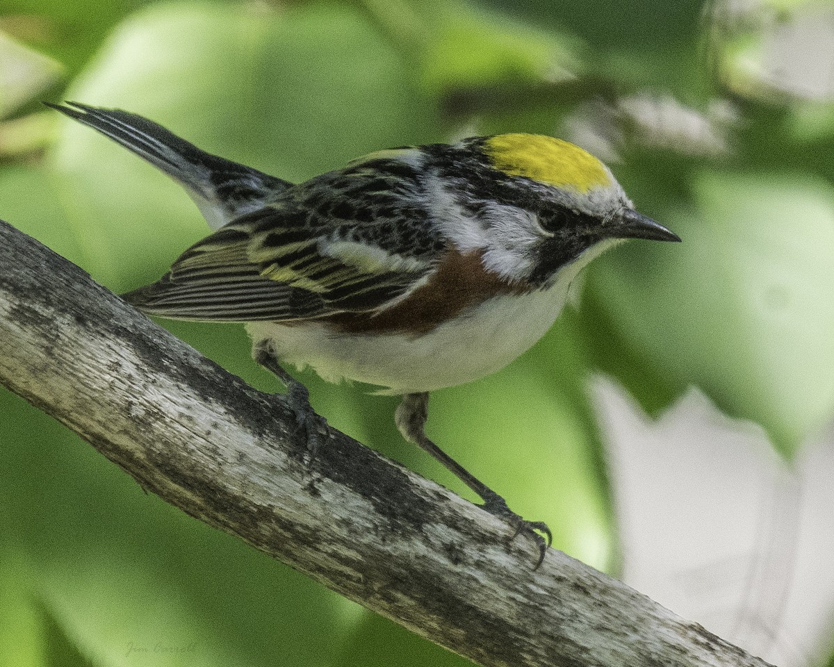
POLYGON ((705 173, 694 189, 696 208, 663 216, 684 243, 612 253, 596 297, 646 365, 790 455, 834 414, 834 192, 791 174, 705 173))

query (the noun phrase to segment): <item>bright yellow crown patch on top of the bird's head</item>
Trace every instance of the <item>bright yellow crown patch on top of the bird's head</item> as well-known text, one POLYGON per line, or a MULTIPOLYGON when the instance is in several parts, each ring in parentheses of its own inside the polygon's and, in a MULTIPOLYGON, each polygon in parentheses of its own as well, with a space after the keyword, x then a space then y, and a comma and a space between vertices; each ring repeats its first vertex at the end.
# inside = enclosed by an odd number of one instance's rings
POLYGON ((532 178, 557 188, 587 193, 607 187, 605 165, 573 143, 541 134, 498 134, 484 143, 492 166, 512 176, 532 178))

